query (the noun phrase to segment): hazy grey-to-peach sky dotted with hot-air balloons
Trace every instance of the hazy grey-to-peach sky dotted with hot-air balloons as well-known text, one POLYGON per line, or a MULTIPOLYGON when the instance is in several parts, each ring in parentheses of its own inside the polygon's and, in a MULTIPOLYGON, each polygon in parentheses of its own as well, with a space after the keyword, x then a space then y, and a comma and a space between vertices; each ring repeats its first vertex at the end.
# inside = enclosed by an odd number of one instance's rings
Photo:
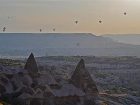
POLYGON ((0 0, 0 32, 3 27, 7 32, 140 33, 140 0, 0 0))

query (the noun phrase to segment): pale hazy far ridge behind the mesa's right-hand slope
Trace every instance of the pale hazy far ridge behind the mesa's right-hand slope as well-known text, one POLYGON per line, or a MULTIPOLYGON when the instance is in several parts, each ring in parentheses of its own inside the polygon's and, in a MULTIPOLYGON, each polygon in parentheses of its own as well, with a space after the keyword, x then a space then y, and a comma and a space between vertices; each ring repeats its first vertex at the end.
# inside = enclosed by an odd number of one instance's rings
POLYGON ((122 43, 140 45, 140 34, 108 34, 102 36, 122 43))

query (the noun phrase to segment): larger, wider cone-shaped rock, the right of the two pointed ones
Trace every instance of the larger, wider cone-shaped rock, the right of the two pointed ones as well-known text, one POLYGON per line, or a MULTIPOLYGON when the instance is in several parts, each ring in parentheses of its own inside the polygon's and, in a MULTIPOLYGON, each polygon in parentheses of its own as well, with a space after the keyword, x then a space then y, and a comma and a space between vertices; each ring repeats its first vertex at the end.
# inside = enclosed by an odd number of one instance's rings
POLYGON ((83 59, 78 63, 71 77, 71 81, 76 87, 81 88, 87 96, 94 97, 98 95, 97 86, 90 76, 90 73, 86 70, 83 59))

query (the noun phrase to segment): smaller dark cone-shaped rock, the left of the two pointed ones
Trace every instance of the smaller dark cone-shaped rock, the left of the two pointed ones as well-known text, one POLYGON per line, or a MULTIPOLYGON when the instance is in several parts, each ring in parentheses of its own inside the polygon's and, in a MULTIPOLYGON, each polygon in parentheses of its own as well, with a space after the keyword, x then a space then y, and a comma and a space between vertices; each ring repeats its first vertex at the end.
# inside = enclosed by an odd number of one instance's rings
POLYGON ((31 53, 29 58, 27 59, 24 69, 28 70, 31 76, 37 75, 38 67, 37 67, 37 63, 35 61, 33 53, 31 53))

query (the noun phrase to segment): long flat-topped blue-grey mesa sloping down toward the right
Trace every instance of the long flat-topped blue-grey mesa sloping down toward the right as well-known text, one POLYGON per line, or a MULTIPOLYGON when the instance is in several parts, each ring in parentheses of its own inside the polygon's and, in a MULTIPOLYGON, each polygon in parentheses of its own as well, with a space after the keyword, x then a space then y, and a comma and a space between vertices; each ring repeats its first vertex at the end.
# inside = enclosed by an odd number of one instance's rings
POLYGON ((140 56, 140 45, 91 33, 1 33, 0 49, 1 56, 140 56))

